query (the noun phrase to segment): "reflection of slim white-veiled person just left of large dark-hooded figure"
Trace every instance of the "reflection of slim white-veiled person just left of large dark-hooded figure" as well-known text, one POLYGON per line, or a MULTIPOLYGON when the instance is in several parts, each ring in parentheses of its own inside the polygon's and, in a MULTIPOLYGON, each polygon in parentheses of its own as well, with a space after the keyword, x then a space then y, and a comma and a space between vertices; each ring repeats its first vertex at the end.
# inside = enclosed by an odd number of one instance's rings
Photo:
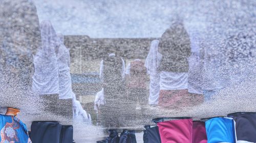
POLYGON ((158 104, 159 91, 160 91, 160 73, 157 70, 162 58, 162 54, 158 52, 159 40, 151 42, 150 51, 147 54, 145 67, 147 73, 150 74, 150 97, 148 103, 150 105, 158 104))

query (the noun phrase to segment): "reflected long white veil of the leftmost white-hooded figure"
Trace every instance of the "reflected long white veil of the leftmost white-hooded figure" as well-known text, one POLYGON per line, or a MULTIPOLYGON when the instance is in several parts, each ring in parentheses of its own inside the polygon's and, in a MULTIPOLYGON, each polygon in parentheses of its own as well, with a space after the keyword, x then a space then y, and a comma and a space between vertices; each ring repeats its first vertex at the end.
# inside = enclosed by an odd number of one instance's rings
POLYGON ((50 21, 40 24, 42 46, 34 57, 35 72, 32 89, 39 95, 59 94, 59 69, 56 55, 61 43, 50 21))

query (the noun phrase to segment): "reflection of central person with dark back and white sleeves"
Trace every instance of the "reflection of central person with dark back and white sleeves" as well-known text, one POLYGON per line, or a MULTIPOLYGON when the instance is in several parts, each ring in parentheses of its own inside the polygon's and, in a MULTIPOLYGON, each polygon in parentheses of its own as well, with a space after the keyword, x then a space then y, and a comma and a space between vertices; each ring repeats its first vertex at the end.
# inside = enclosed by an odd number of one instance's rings
POLYGON ((98 110, 98 122, 104 127, 120 127, 120 106, 123 102, 124 72, 123 59, 109 51, 109 55, 100 62, 99 77, 104 89, 105 105, 98 110))

